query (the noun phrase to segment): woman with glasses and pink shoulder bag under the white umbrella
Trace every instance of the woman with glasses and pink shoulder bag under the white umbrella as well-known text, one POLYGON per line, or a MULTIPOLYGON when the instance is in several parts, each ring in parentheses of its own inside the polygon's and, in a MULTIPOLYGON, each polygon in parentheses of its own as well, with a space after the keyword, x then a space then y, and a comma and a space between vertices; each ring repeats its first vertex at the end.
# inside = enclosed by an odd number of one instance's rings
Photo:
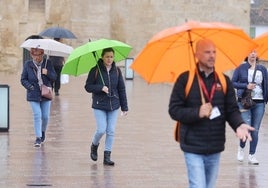
POLYGON ((27 90, 27 101, 29 101, 34 120, 34 131, 36 140, 35 147, 40 147, 45 141, 45 133, 50 116, 51 100, 41 96, 41 85, 51 87, 51 82, 56 79, 56 72, 51 61, 43 58, 44 50, 32 48, 30 50, 32 60, 23 65, 21 73, 21 84, 27 90))

